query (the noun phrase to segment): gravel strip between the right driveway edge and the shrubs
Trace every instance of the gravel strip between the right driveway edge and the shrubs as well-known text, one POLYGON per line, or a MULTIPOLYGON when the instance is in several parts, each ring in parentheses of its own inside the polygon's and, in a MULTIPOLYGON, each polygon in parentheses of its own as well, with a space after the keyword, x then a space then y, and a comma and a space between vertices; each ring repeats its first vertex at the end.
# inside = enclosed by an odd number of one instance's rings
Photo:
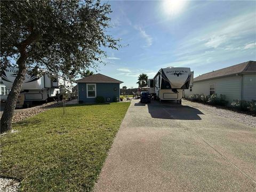
POLYGON ((213 106, 207 106, 202 103, 191 102, 188 100, 182 100, 182 104, 193 106, 193 107, 199 108, 199 109, 203 109, 203 110, 209 111, 210 113, 217 114, 221 117, 225 117, 225 118, 231 119, 233 121, 243 123, 245 125, 256 127, 256 117, 253 117, 251 115, 238 113, 236 111, 231 111, 228 109, 220 109, 220 108, 213 107, 213 106))

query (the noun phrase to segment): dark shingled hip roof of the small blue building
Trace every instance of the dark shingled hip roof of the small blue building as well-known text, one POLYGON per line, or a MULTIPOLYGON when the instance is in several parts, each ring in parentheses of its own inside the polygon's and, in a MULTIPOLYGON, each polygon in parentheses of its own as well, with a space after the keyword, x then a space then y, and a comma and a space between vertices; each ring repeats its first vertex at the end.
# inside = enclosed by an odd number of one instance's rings
POLYGON ((95 74, 95 75, 83 77, 81 79, 77 79, 75 82, 76 83, 124 83, 122 81, 119 81, 117 79, 114 79, 102 74, 95 74))

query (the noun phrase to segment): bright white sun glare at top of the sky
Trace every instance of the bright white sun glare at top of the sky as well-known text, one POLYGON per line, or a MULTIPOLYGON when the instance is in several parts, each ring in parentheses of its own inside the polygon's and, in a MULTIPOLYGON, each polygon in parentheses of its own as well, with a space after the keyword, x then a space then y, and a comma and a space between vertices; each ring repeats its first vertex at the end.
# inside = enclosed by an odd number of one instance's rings
POLYGON ((163 8, 166 14, 176 15, 181 12, 185 4, 186 1, 182 0, 168 0, 163 2, 163 8))

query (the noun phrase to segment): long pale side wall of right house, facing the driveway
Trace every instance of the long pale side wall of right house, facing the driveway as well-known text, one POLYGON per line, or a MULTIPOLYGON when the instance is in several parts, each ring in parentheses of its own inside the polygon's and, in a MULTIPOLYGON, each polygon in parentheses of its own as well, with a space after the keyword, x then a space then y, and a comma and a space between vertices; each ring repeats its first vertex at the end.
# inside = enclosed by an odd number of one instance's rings
POLYGON ((192 94, 210 94, 210 84, 215 83, 215 93, 225 94, 229 105, 236 99, 242 97, 242 76, 230 76, 223 78, 210 79, 206 81, 194 82, 192 91, 185 90, 185 98, 192 94))

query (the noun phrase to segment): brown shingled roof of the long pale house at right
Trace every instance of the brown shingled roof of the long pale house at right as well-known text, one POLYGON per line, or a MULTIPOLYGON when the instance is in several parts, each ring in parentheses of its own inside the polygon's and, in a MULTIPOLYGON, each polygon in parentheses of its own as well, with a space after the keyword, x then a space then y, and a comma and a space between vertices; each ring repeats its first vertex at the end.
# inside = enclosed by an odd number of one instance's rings
POLYGON ((218 78, 236 74, 256 73, 256 61, 247 61, 234 66, 215 70, 210 73, 199 75, 194 78, 194 82, 204 81, 211 78, 218 78))

